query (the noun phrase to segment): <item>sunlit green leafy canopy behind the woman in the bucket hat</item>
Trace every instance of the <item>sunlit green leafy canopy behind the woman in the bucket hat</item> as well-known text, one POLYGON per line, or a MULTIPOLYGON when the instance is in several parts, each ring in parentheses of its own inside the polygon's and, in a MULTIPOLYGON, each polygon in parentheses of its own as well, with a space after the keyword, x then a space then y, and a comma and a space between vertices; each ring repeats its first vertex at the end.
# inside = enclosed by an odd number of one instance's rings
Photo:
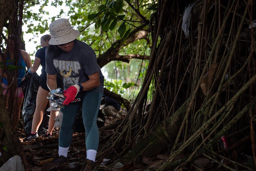
MULTIPOLYGON (((134 2, 130 0, 54 0, 51 1, 52 6, 57 7, 65 3, 70 10, 60 10, 59 15, 47 18, 49 13, 45 11, 45 8, 47 8, 49 4, 48 0, 29 0, 25 3, 24 23, 30 23, 27 33, 44 33, 45 30, 49 29, 49 20, 52 22, 53 20, 61 18, 63 14, 66 14, 74 28, 80 31, 79 39, 89 44, 95 50, 97 56, 107 52, 111 45, 117 40, 125 41, 133 29, 143 23, 147 23, 158 5, 155 1, 149 0, 142 0, 137 4, 134 4, 134 2), (30 7, 34 5, 40 5, 38 12, 31 10, 30 7), (33 24, 31 21, 40 21, 40 24, 33 24)), ((137 40, 132 44, 121 47, 117 53, 119 55, 149 55, 150 48, 146 44, 146 40, 137 40)), ((130 64, 116 61, 110 62, 108 65, 110 65, 106 67, 108 79, 110 81, 116 80, 112 81, 116 86, 120 83, 119 79, 125 80, 124 83, 122 83, 123 85, 120 86, 123 88, 141 85, 136 83, 136 79, 138 78, 142 81, 142 71, 145 71, 146 67, 141 60, 131 60, 130 64), (144 68, 141 68, 141 66, 144 66, 144 68), (118 72, 117 68, 119 70, 118 72)), ((105 82, 105 85, 106 87, 111 87, 108 82, 105 82)), ((118 93, 123 93, 122 88, 119 89, 118 93)))

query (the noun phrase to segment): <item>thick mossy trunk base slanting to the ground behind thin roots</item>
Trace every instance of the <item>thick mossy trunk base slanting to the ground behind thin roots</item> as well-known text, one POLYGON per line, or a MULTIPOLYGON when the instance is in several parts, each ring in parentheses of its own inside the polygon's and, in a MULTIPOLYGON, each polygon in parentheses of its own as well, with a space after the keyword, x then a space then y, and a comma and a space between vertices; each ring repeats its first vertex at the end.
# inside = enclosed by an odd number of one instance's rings
POLYGON ((180 125, 186 114, 189 98, 170 118, 162 121, 156 129, 142 138, 134 148, 124 156, 121 161, 128 163, 129 161, 141 156, 154 157, 161 152, 165 153, 167 145, 174 143, 175 138, 180 129, 180 125))

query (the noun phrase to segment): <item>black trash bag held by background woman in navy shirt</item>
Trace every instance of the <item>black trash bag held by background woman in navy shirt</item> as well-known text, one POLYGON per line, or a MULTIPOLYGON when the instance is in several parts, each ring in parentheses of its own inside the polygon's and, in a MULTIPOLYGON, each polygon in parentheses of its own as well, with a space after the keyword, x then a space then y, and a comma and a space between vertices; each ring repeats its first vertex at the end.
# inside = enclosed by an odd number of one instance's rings
MULTIPOLYGON (((25 79, 21 82, 22 90, 24 94, 24 102, 22 108, 22 117, 24 130, 26 135, 29 135, 32 128, 32 121, 34 112, 36 109, 36 99, 37 99, 37 90, 39 87, 39 76, 37 73, 29 74, 27 73, 25 79)), ((38 135, 45 135, 48 129, 48 122, 50 112, 46 111, 49 106, 45 108, 45 114, 43 121, 38 129, 38 135)))

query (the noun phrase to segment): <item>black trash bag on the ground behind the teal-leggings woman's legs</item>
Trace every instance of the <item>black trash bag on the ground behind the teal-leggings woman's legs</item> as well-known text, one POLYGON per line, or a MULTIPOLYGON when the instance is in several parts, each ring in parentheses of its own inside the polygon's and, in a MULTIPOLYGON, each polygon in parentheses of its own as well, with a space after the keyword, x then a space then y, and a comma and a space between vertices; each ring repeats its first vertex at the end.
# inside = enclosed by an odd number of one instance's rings
MULTIPOLYGON (((97 126, 98 128, 104 126, 105 124, 106 115, 102 113, 102 110, 99 110, 98 117, 97 117, 97 126)), ((78 133, 84 133, 85 127, 83 123, 83 116, 82 116, 82 108, 79 109, 77 117, 73 124, 73 131, 78 133)))

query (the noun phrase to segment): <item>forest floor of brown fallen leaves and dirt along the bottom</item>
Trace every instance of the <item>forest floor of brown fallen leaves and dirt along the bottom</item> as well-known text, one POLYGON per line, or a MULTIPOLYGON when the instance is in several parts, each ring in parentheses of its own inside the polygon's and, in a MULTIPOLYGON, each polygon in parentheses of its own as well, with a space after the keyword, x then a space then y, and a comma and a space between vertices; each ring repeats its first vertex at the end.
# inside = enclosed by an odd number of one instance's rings
MULTIPOLYGON (((123 112, 119 118, 106 117, 104 126, 110 125, 125 118, 126 113, 123 112)), ((113 130, 100 130, 100 139, 107 136, 113 130)), ((85 133, 73 133, 73 140, 68 153, 68 163, 60 166, 51 165, 50 162, 58 154, 58 137, 59 127, 54 128, 52 138, 39 136, 35 140, 23 142, 26 137, 22 121, 16 128, 16 133, 24 147, 27 159, 32 171, 79 171, 86 159, 85 133)), ((235 142, 237 143, 237 142, 235 142)), ((99 144, 99 148, 103 144, 99 144)), ((196 159, 193 163, 184 162, 180 166, 169 169, 170 171, 224 171, 224 170, 254 170, 253 158, 246 155, 245 144, 240 144, 236 150, 218 151, 215 159, 207 159, 205 157, 196 159)), ((179 155, 184 158, 185 155, 179 155)), ((112 170, 112 171, 132 171, 132 170, 156 170, 163 162, 169 158, 168 154, 159 154, 155 158, 143 157, 138 163, 123 165, 118 162, 114 166, 109 167, 114 161, 111 159, 98 159, 95 170, 112 170)), ((1 170, 1 169, 0 169, 1 170)))

